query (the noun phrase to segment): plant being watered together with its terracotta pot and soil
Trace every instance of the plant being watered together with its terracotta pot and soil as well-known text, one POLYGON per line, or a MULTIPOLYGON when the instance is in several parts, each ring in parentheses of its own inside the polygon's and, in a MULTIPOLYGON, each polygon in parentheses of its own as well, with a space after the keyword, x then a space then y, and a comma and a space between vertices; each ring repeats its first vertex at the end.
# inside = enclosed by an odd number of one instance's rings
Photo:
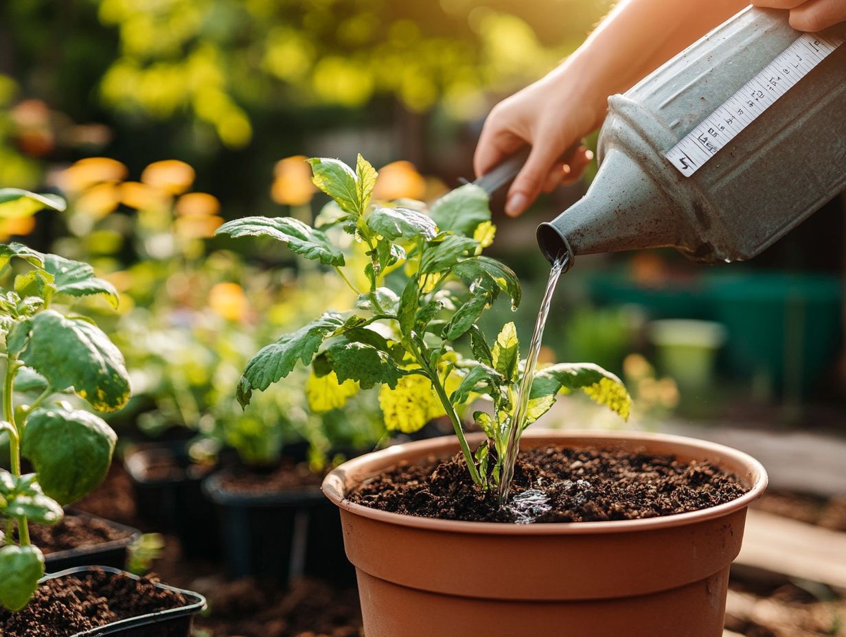
MULTIPOLYGON (((519 442, 522 433, 514 415, 525 367, 513 326, 494 343, 475 327, 498 296, 519 302, 514 273, 479 254, 493 233, 486 193, 465 185, 428 210, 372 205, 376 171, 363 159, 354 169, 310 162, 337 203, 334 218, 311 228, 247 217, 219 232, 272 237, 350 280, 332 242, 340 228, 366 247, 368 284, 352 313, 327 312, 256 354, 241 402, 301 361, 327 386, 381 386, 388 428, 445 412, 455 431, 351 460, 323 483, 341 508, 368 637, 719 634, 745 509, 766 485, 761 465, 684 438, 535 432, 523 437, 511 497, 500 502, 509 434, 519 442), (476 411, 481 433, 466 435, 457 408, 479 395, 492 409, 476 411)), ((576 389, 628 413, 615 376, 560 364, 536 372, 526 420, 576 389)))

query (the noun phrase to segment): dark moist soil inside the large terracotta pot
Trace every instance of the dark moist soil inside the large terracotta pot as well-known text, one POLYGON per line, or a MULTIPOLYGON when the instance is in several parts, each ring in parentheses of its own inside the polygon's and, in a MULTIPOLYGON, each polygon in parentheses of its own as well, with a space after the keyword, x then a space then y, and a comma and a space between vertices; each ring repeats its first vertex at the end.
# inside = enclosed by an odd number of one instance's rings
POLYGON ((597 522, 655 518, 730 502, 745 489, 712 464, 613 449, 547 446, 520 452, 508 506, 481 491, 459 454, 401 464, 349 499, 382 511, 469 522, 597 522))

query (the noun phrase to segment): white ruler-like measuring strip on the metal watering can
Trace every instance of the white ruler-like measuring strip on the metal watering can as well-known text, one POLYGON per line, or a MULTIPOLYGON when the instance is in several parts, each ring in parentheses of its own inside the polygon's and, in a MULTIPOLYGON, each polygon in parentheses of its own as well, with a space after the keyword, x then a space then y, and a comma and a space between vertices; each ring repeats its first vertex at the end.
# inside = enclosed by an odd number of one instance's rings
POLYGON ((843 38, 805 33, 716 111, 702 120, 664 157, 689 177, 717 151, 771 107, 810 70, 821 63, 843 38))

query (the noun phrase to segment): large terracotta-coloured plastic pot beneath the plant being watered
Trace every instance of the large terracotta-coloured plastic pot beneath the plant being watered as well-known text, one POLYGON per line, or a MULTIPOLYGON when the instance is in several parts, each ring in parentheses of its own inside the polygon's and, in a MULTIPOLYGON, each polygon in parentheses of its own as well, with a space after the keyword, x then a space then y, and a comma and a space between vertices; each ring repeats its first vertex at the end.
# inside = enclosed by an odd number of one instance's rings
MULTIPOLYGON (((474 444, 480 437, 470 437, 474 444)), ((341 509, 367 637, 719 637, 728 567, 766 471, 745 453, 658 434, 529 431, 544 444, 707 460, 739 476, 733 502, 654 519, 497 524, 415 518, 344 494, 405 460, 446 457, 453 437, 411 442, 342 464, 323 491, 341 509)))

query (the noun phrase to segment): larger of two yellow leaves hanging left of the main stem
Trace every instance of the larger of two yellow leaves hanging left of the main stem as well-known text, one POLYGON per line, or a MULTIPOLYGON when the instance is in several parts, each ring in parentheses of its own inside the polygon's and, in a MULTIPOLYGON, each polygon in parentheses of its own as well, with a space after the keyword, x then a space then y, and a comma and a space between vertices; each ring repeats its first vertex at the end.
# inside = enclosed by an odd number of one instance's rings
POLYGON ((388 431, 414 433, 430 420, 446 415, 431 381, 420 374, 403 376, 396 387, 382 385, 379 406, 388 431))

